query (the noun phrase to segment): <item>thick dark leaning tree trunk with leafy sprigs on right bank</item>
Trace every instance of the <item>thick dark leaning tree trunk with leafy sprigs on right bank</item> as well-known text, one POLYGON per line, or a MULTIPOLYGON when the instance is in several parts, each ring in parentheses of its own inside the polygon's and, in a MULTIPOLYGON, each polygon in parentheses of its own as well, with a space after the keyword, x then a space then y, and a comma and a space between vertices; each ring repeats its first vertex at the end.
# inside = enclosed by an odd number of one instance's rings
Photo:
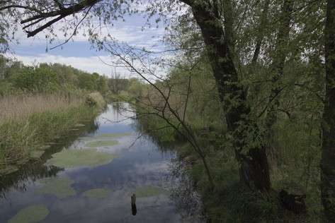
POLYGON ((249 119, 250 107, 246 104, 246 93, 239 83, 235 65, 232 2, 224 1, 225 29, 219 13, 206 1, 184 1, 190 5, 205 41, 212 71, 217 81, 220 99, 225 111, 228 130, 234 138, 234 147, 240 163, 240 179, 247 186, 259 191, 271 188, 268 160, 263 147, 247 149, 247 131, 257 129, 249 119))

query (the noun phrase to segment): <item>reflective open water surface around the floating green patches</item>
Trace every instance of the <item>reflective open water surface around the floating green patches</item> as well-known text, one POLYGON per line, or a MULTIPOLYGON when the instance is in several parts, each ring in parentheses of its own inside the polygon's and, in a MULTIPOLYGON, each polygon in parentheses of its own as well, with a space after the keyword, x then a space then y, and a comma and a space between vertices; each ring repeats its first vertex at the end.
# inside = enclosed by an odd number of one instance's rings
POLYGON ((113 104, 96 120, 98 129, 92 128, 91 133, 79 138, 76 135, 74 138, 77 139, 69 140, 65 146, 55 145, 36 167, 39 171, 44 169, 43 174, 29 166, 25 168, 27 174, 23 170, 18 173, 20 177, 16 179, 20 180, 13 180, 16 183, 6 180, 7 185, 3 187, 6 188, 6 198, 0 198, 0 222, 8 221, 23 207, 35 204, 43 204, 50 211, 45 222, 202 222, 195 210, 200 205, 191 205, 193 202, 188 201, 193 192, 186 193, 186 190, 193 188, 184 186, 182 182, 186 178, 177 176, 177 170, 171 169, 180 167, 174 163, 175 152, 160 147, 157 141, 139 131, 137 121, 129 119, 135 115, 130 109, 127 104, 113 104), (115 155, 112 162, 97 167, 65 169, 42 164, 52 152, 59 152, 63 147, 81 150, 89 141, 105 140, 99 136, 102 134, 121 135, 109 139, 118 140, 118 145, 97 147, 98 151, 115 155), (140 135, 144 137, 139 138, 140 135), (76 193, 66 198, 57 198, 52 193, 36 193, 43 185, 42 181, 50 176, 55 180, 70 179, 73 182, 71 188, 76 193), (25 185, 24 190, 18 189, 18 184, 25 185), (178 186, 185 191, 177 192, 178 186), (83 195, 99 188, 110 191, 106 198, 83 195), (177 193, 183 198, 178 198, 177 193), (131 199, 134 194, 136 198, 131 199), (191 210, 181 203, 187 203, 191 210))

